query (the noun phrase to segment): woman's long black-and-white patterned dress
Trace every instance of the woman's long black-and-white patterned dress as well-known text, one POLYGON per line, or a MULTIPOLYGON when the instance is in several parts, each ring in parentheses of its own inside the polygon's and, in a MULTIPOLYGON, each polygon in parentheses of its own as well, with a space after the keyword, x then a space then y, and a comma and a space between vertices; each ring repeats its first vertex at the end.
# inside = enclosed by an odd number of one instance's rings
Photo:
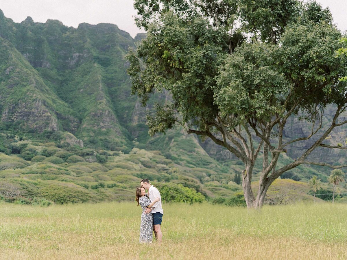
POLYGON ((151 204, 151 200, 147 196, 142 196, 139 198, 138 203, 143 209, 140 226, 140 243, 151 243, 153 239, 153 215, 152 212, 149 214, 144 213, 147 206, 151 204))

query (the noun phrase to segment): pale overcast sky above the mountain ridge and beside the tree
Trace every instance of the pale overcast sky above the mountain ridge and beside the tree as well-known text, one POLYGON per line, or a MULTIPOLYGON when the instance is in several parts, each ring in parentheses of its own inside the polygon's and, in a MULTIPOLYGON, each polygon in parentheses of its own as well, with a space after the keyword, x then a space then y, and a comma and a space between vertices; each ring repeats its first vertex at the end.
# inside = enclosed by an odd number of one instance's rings
MULTIPOLYGON (((323 7, 329 6, 338 27, 341 31, 346 31, 346 0, 318 2, 323 7)), ((45 23, 47 19, 57 19, 73 27, 78 27, 80 23, 112 23, 135 37, 142 31, 134 24, 133 16, 136 12, 133 3, 133 0, 0 0, 0 9, 16 23, 27 16, 41 23, 45 23)))

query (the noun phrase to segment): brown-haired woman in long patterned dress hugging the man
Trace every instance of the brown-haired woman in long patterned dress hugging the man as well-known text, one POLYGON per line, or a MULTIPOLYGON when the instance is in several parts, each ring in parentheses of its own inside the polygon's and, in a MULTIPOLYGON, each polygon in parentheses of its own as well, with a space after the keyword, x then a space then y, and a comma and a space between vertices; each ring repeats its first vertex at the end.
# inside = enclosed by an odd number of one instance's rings
POLYGON ((137 206, 141 205, 141 226, 140 226, 140 243, 151 243, 153 239, 153 215, 152 212, 145 214, 147 208, 152 208, 155 202, 160 201, 159 197, 155 198, 153 202, 147 197, 146 190, 143 187, 136 189, 136 202, 137 206))

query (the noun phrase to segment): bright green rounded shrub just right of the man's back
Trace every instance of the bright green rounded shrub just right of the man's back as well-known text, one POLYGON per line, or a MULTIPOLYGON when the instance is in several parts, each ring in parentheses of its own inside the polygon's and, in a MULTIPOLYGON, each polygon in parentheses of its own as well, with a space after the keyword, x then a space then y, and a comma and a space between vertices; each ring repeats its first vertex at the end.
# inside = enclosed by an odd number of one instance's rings
POLYGON ((184 187, 181 184, 162 183, 158 184, 157 188, 160 190, 163 201, 193 203, 205 200, 205 197, 200 192, 184 187))

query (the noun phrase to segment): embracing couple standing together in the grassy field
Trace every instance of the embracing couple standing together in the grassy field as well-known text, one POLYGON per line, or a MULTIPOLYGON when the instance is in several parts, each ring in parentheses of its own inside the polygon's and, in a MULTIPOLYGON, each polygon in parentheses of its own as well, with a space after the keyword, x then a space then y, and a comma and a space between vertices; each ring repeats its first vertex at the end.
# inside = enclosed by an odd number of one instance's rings
POLYGON ((161 243, 162 233, 160 229, 163 218, 163 208, 161 207, 160 192, 151 185, 148 179, 141 181, 141 187, 136 189, 137 206, 141 205, 141 226, 140 226, 140 243, 151 243, 153 231, 155 239, 161 243), (148 192, 146 193, 146 190, 148 192))

